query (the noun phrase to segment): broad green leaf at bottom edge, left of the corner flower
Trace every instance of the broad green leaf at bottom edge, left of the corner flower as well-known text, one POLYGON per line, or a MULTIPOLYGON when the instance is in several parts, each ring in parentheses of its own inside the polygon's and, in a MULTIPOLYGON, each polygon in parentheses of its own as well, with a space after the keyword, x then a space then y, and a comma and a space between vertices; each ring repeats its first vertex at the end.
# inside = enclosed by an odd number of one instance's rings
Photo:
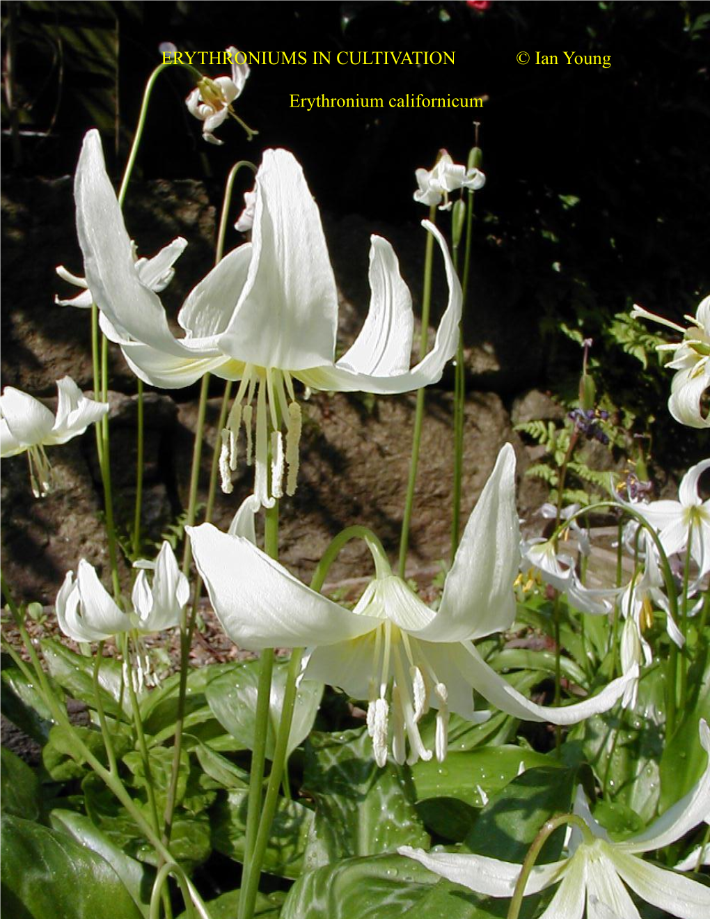
POLYGON ((280 919, 401 919, 436 881, 411 858, 347 858, 299 878, 280 919))

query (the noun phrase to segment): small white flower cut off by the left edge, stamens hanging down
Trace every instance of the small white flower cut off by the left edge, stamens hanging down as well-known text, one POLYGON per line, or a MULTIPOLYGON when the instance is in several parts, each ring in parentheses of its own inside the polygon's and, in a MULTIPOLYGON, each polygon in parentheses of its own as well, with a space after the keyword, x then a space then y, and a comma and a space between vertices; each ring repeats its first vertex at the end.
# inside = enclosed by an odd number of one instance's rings
POLYGON ((49 494, 54 484, 44 448, 84 434, 108 411, 107 403, 87 399, 71 377, 57 380, 57 392, 56 415, 34 396, 13 386, 6 386, 0 396, 0 457, 27 451, 29 480, 36 498, 49 494))

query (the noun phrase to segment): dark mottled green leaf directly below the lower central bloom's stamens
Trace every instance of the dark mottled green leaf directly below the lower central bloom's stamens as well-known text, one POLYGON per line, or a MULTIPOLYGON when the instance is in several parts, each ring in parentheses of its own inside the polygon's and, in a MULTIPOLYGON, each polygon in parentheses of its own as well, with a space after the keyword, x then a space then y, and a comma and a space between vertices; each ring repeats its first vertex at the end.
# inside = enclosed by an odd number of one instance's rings
POLYGON ((302 791, 316 802, 306 868, 429 845, 404 771, 391 763, 379 768, 365 728, 311 733, 302 791))

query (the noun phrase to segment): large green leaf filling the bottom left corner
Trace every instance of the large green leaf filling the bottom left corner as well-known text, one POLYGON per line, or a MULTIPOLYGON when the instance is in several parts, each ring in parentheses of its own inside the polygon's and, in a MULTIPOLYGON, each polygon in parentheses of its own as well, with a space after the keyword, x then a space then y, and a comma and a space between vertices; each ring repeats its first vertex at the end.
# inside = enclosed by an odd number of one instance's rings
POLYGON ((108 862, 71 836, 19 817, 2 818, 3 914, 22 919, 141 919, 108 862))

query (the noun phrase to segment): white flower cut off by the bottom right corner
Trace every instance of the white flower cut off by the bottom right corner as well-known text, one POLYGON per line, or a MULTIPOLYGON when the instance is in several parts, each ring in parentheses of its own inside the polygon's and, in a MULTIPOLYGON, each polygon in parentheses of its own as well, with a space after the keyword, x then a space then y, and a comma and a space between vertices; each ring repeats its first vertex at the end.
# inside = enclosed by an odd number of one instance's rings
MULTIPOLYGON (((700 742, 710 754, 710 731, 704 720, 700 721, 700 742)), ((544 891, 561 881, 539 919, 582 919, 585 901, 589 919, 606 914, 601 912, 602 906, 620 919, 640 919, 625 885, 668 915, 706 919, 710 915, 710 888, 651 865, 639 856, 681 839, 704 821, 709 811, 710 767, 706 766, 693 789, 647 830, 615 843, 592 817, 580 786, 574 812, 587 824, 589 834, 583 836, 575 826, 569 837, 569 857, 549 865, 536 865, 524 892, 544 891)), ((490 897, 512 897, 521 869, 520 865, 486 856, 428 855, 409 845, 402 846, 399 852, 415 858, 435 874, 490 897)))

